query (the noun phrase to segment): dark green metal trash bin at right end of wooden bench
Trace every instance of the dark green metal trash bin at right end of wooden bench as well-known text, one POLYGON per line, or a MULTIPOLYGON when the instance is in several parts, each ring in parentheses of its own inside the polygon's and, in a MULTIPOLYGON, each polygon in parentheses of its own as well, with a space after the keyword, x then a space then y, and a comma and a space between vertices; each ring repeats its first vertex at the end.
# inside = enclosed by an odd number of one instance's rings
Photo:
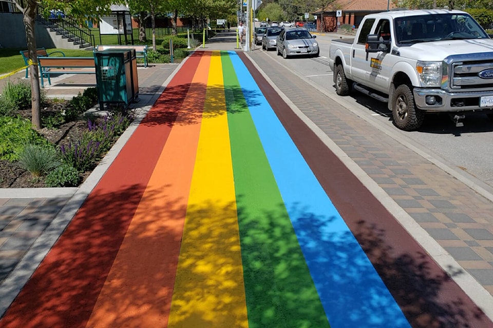
POLYGON ((135 95, 132 89, 131 51, 95 51, 94 61, 100 109, 109 104, 128 106, 135 95))

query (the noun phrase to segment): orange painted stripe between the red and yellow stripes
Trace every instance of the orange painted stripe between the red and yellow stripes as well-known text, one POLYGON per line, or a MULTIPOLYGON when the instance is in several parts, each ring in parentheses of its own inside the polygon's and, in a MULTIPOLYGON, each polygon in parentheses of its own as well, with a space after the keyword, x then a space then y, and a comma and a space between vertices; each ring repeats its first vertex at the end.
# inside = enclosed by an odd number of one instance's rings
POLYGON ((200 61, 88 327, 167 324, 210 58, 200 61))

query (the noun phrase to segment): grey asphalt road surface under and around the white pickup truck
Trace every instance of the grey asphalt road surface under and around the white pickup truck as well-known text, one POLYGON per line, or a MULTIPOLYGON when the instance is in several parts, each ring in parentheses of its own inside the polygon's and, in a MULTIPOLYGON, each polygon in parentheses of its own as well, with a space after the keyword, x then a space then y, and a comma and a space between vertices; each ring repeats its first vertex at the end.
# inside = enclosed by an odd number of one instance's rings
MULTIPOLYGON (((285 66, 300 78, 309 81, 338 103, 366 119, 369 124, 399 139, 423 156, 437 161, 458 174, 464 175, 481 187, 493 190, 493 122, 486 115, 476 114, 456 127, 447 114, 430 114, 419 131, 405 132, 393 126, 387 104, 358 92, 340 97, 333 86, 333 72, 329 67, 330 40, 343 35, 317 35, 320 56, 283 59, 276 51, 263 51, 279 65, 285 66)), ((262 51, 262 50, 258 50, 262 51)))

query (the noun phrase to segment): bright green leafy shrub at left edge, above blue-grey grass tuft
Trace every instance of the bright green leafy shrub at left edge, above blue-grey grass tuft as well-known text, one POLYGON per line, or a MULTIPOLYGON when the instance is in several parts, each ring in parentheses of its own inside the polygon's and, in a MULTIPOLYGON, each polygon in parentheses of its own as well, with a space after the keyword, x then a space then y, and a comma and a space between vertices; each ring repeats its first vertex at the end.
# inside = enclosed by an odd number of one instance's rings
POLYGON ((0 159, 15 161, 24 145, 49 145, 48 140, 31 127, 28 119, 0 116, 0 159))

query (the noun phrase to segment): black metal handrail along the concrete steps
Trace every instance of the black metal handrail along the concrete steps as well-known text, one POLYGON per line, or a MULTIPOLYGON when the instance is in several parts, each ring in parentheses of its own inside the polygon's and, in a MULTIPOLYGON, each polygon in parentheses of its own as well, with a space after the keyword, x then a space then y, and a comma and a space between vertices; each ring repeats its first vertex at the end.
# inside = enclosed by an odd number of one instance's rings
MULTIPOLYGON (((41 5, 38 5, 38 11, 44 10, 41 5)), ((48 27, 56 27, 60 28, 64 31, 67 31, 74 37, 78 37, 81 40, 81 45, 85 42, 88 43, 91 47, 96 45, 94 35, 92 31, 87 27, 82 27, 71 17, 66 16, 60 10, 51 10, 50 18, 45 18, 44 16, 37 14, 37 20, 48 26, 48 27)))

